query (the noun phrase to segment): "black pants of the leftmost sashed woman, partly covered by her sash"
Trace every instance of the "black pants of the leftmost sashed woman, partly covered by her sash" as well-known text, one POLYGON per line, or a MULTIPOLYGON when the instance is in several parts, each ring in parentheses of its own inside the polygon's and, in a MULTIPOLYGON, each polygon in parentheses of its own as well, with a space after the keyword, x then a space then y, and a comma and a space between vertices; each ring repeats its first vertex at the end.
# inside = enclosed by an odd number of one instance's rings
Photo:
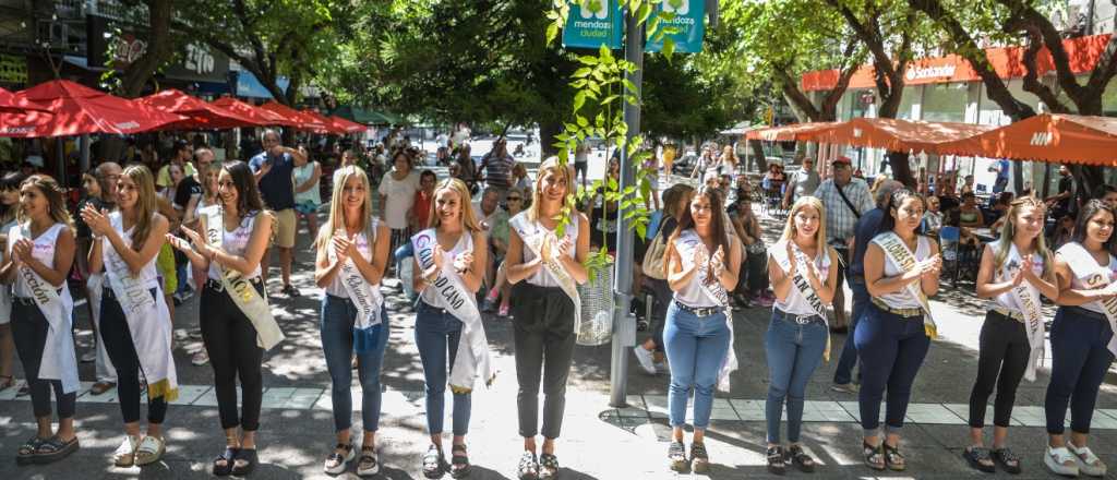
MULTIPOLYGON (((50 324, 36 305, 23 305, 13 300, 11 306, 11 337, 16 342, 16 353, 23 364, 23 374, 31 391, 31 410, 36 419, 50 416, 50 388, 55 390, 55 401, 58 403, 58 419, 73 419, 77 406, 77 392, 63 393, 63 383, 58 380, 39 378, 39 363, 42 361, 42 349, 47 345, 47 332, 50 324)), ((69 332, 63 333, 61 342, 71 342, 69 332)))

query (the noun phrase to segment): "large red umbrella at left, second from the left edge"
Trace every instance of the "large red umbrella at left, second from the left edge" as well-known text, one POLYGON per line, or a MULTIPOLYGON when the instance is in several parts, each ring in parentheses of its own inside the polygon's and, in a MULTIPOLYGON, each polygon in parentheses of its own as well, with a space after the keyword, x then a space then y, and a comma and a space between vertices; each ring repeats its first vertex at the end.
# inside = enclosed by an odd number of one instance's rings
POLYGON ((54 115, 49 122, 3 124, 8 136, 125 135, 165 127, 184 118, 68 80, 39 84, 17 93, 16 98, 41 104, 54 115))

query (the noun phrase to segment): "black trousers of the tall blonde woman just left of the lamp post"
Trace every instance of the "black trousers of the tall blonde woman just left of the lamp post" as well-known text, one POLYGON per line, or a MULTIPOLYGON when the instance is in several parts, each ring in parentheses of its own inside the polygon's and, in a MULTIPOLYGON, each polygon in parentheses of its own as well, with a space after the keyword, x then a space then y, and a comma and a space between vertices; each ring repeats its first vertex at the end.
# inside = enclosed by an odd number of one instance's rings
POLYGON ((535 436, 538 432, 542 380, 543 436, 557 439, 566 407, 566 377, 574 356, 574 303, 558 287, 522 281, 512 289, 512 308, 519 435, 535 436))

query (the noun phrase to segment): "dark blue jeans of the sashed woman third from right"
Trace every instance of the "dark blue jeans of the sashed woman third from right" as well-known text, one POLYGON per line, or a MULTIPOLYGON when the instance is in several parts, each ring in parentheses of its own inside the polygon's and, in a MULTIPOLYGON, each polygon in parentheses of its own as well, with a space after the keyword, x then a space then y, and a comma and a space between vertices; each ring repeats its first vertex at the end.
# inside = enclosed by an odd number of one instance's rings
POLYGON ((930 348, 923 317, 901 317, 869 304, 853 342, 861 358, 858 395, 861 428, 866 435, 877 434, 880 400, 888 388, 885 425, 888 433, 899 433, 911 397, 911 384, 930 348))

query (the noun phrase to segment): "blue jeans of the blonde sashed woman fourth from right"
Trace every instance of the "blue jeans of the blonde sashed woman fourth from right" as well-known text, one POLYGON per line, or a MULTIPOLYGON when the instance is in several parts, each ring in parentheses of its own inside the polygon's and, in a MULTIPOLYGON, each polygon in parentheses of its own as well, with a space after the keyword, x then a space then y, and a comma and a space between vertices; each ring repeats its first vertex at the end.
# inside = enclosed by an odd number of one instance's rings
POLYGON ((780 443, 780 419, 783 416, 783 404, 787 403, 787 441, 799 442, 799 432, 803 425, 803 397, 806 396, 806 383, 811 380, 814 368, 822 362, 822 353, 827 349, 827 337, 830 335, 827 324, 819 317, 800 325, 795 317, 784 318, 782 313, 773 310, 764 335, 764 354, 768 364, 768 396, 764 405, 764 417, 767 420, 768 443, 780 443))

